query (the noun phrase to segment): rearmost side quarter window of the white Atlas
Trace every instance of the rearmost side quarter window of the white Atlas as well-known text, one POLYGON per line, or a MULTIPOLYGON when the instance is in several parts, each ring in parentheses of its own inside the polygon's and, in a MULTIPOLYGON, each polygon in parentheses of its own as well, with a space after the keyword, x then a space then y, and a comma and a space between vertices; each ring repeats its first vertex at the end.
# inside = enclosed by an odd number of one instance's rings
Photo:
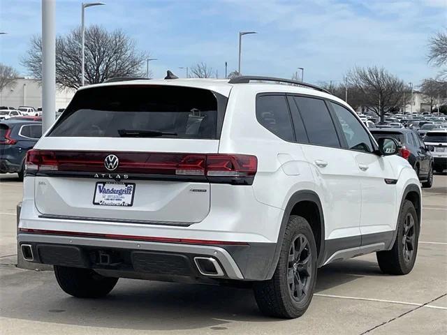
POLYGON ((262 126, 279 138, 289 142, 295 140, 286 96, 257 96, 256 119, 262 126))

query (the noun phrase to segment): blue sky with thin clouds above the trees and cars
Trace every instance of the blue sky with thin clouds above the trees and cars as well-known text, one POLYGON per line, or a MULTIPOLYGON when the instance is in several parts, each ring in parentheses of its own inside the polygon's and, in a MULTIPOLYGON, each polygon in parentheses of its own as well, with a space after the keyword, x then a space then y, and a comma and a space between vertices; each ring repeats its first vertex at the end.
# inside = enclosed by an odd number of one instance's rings
MULTIPOLYGON (((86 0, 85 0, 86 1, 86 0)), ((245 36, 242 73, 305 81, 342 80, 353 66, 384 66, 418 84, 437 69, 427 65, 428 38, 447 28, 447 0, 103 0, 87 8, 86 24, 122 29, 158 58, 154 77, 206 62, 223 77, 237 68, 238 32, 245 36)), ((80 24, 80 0, 57 0, 56 31, 80 24)), ((29 39, 41 34, 41 0, 0 0, 0 62, 20 66, 29 39)))

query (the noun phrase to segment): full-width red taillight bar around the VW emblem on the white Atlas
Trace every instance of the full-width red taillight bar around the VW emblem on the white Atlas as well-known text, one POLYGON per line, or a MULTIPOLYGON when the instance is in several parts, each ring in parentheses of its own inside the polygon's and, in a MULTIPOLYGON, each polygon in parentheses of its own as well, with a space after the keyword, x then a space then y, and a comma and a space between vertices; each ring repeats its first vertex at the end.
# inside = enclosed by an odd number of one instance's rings
POLYGON ((31 149, 27 153, 28 174, 94 172, 98 174, 151 175, 151 179, 200 177, 213 183, 251 184, 258 168, 256 156, 240 154, 170 154, 153 152, 115 153, 115 170, 107 170, 104 159, 110 152, 47 151, 31 149))

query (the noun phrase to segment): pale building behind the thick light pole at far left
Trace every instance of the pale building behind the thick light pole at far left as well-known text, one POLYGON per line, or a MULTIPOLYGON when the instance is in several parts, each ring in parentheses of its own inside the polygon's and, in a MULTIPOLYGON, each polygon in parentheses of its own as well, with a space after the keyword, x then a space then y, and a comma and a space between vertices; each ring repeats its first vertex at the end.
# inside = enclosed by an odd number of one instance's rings
MULTIPOLYGON (((56 110, 67 107, 75 94, 74 89, 64 89, 56 91, 56 110)), ((42 86, 36 79, 17 78, 15 83, 0 91, 1 106, 31 106, 42 107, 42 86)))

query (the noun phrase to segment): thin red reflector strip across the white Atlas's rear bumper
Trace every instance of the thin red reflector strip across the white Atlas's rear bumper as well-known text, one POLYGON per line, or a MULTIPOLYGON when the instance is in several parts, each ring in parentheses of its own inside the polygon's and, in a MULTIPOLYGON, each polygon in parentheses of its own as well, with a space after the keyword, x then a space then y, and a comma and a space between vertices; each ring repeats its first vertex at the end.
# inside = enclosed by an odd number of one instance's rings
POLYGON ((61 236, 78 236, 78 237, 94 237, 98 239, 126 239, 132 241, 146 241, 146 242, 161 242, 161 243, 179 243, 179 244, 212 244, 225 246, 248 246, 247 242, 239 241, 214 241, 209 239, 177 239, 172 237, 150 237, 150 236, 135 236, 135 235, 121 235, 121 234, 98 234, 94 232, 65 232, 61 230, 41 230, 19 228, 19 232, 26 232, 29 234, 50 234, 61 236))

